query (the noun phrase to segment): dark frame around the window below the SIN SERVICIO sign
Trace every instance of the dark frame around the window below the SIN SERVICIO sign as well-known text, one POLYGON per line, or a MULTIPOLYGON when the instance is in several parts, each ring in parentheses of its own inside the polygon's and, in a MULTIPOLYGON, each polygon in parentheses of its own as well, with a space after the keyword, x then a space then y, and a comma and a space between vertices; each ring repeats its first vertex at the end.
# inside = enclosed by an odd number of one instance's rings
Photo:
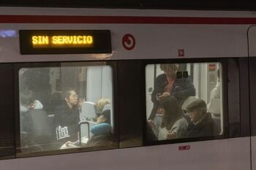
POLYGON ((14 80, 15 80, 15 157, 26 158, 34 156, 45 155, 59 155, 72 152, 87 152, 97 150, 108 150, 118 148, 118 100, 116 99, 118 94, 116 93, 116 61, 58 61, 58 62, 31 62, 31 63, 14 63, 14 80), (42 150, 39 152, 21 152, 20 150, 20 90, 19 90, 19 71, 23 68, 47 68, 47 67, 61 67, 64 66, 110 66, 112 69, 112 104, 113 104, 113 142, 115 147, 100 146, 100 147, 78 147, 69 148, 67 150, 42 150))

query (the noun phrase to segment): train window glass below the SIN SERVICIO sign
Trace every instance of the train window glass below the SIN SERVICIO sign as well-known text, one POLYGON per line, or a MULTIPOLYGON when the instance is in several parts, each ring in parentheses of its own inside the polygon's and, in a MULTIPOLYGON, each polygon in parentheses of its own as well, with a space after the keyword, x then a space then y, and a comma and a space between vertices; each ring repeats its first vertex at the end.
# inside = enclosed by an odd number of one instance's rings
POLYGON ((112 68, 80 65, 19 70, 18 152, 116 146, 112 68))

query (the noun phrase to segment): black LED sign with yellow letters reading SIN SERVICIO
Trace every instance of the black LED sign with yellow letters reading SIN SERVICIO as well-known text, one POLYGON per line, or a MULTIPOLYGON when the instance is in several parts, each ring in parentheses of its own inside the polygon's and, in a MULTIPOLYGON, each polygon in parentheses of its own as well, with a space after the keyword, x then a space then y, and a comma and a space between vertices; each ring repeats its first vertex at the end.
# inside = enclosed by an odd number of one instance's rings
POLYGON ((112 53, 108 30, 20 30, 21 54, 112 53))

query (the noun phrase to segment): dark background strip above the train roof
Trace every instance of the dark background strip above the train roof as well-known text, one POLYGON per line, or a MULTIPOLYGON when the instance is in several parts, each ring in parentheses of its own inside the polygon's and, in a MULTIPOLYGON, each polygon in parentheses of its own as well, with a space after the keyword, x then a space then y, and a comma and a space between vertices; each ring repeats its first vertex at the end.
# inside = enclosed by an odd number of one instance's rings
POLYGON ((253 0, 1 0, 5 7, 255 10, 253 0))

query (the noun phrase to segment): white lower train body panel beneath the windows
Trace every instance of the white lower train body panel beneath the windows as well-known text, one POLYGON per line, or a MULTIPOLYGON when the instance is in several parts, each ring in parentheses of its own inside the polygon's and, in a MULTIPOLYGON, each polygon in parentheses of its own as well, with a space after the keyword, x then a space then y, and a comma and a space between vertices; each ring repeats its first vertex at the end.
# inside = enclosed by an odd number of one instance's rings
POLYGON ((0 161, 4 170, 249 170, 249 137, 0 161), (190 150, 178 150, 190 145, 190 150))

